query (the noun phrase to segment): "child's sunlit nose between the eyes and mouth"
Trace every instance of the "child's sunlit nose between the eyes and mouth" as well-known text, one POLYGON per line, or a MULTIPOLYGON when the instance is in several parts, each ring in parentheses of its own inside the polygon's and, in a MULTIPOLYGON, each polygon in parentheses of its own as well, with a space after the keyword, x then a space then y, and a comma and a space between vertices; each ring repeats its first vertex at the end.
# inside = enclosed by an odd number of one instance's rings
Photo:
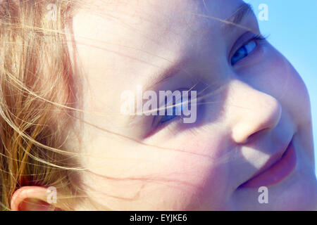
POLYGON ((236 143, 246 143, 252 134, 273 129, 278 124, 282 108, 273 96, 240 80, 230 82, 228 96, 231 134, 236 143))

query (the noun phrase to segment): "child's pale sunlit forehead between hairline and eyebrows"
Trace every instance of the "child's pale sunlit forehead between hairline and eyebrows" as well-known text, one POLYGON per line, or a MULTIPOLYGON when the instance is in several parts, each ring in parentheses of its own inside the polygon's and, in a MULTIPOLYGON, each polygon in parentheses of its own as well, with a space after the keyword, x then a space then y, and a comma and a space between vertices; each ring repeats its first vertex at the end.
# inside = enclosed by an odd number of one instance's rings
POLYGON ((100 0, 98 3, 101 5, 90 12, 83 10, 75 15, 75 40, 89 72, 97 75, 101 68, 111 70, 108 78, 116 81, 118 77, 138 80, 159 74, 183 58, 198 60, 205 55, 202 52, 217 63, 220 57, 210 53, 223 49, 219 44, 224 39, 220 35, 223 25, 220 20, 230 18, 243 1, 100 0))

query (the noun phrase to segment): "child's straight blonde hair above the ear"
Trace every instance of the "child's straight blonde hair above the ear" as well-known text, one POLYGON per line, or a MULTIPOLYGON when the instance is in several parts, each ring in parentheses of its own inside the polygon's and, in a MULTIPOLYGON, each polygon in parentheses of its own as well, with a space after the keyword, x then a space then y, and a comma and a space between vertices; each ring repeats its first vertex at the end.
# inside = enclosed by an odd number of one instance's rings
POLYGON ((74 9, 67 0, 0 0, 1 210, 21 186, 79 192, 65 146, 79 93, 64 32, 74 9))

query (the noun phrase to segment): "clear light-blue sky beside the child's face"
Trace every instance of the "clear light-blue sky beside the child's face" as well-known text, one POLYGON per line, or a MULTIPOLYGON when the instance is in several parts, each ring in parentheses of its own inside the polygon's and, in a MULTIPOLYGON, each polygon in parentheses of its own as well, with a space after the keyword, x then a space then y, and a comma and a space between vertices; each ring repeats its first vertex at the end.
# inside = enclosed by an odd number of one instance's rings
POLYGON ((263 35, 299 72, 309 89, 317 174, 317 1, 246 0, 259 15, 259 5, 268 6, 268 21, 259 21, 263 35))

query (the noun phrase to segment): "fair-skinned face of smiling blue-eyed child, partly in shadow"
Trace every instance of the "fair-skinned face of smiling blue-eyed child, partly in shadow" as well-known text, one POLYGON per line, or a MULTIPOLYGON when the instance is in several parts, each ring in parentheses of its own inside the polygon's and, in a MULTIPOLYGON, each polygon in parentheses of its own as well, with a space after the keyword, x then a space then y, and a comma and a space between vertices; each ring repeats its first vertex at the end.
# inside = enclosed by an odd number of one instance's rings
POLYGON ((83 181, 99 209, 316 207, 306 87, 271 44, 254 39, 256 16, 247 7, 237 11, 243 3, 104 1, 99 10, 77 13, 83 109, 106 115, 85 114, 81 130, 89 154, 83 181), (156 93, 196 90, 204 96, 196 122, 121 115, 121 94, 138 85, 156 93), (268 203, 259 203, 260 186, 268 188, 268 203))

